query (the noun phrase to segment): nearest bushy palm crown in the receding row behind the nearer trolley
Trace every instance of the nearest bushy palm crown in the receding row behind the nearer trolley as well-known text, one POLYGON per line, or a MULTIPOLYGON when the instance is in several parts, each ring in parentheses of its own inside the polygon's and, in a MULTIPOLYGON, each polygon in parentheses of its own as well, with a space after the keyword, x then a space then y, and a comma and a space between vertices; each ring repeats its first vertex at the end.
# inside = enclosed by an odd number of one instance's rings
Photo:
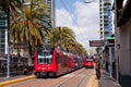
POLYGON ((69 48, 69 40, 75 40, 75 35, 71 28, 56 27, 52 29, 51 45, 55 47, 69 48))

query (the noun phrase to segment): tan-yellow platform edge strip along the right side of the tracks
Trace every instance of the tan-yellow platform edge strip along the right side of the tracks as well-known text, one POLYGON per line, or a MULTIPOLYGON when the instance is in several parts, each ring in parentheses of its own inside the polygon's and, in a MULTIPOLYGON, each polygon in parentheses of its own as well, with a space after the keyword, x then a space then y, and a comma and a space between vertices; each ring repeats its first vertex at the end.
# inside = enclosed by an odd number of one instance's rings
POLYGON ((98 87, 98 79, 96 78, 95 71, 90 77, 90 80, 86 85, 86 87, 98 87))

